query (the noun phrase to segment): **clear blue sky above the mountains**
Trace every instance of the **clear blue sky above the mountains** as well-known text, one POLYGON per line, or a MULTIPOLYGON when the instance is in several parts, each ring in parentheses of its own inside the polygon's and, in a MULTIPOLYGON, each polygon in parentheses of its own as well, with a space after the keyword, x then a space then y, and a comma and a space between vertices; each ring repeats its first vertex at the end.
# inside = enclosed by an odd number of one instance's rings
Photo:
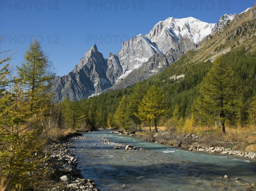
POLYGON ((96 43, 104 57, 126 41, 147 34, 168 17, 195 17, 217 23, 222 14, 240 13, 256 0, 21 0, 0 1, 0 51, 17 51, 19 65, 34 37, 58 75, 68 74, 96 43))

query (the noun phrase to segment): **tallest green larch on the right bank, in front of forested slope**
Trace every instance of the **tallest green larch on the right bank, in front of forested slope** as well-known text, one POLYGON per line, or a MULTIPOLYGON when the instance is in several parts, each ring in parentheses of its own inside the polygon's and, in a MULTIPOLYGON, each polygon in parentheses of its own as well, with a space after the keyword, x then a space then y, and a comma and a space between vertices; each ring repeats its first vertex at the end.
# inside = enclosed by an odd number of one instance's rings
POLYGON ((237 115, 237 94, 234 90, 238 83, 235 82, 233 75, 223 56, 219 56, 214 60, 199 91, 197 104, 203 111, 204 117, 221 126, 223 133, 225 133, 227 116, 237 115))

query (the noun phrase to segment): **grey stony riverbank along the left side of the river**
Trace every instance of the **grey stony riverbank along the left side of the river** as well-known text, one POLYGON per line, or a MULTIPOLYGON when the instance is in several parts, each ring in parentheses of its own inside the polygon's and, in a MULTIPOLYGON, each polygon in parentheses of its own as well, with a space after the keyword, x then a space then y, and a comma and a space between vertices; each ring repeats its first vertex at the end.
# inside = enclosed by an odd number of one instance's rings
MULTIPOLYGON (((82 136, 81 136, 82 137, 82 136)), ((75 137, 73 137, 75 138, 75 137)), ((72 139, 63 143, 49 145, 47 165, 52 174, 50 186, 41 188, 45 191, 100 191, 93 179, 84 179, 77 167, 78 159, 72 150, 75 149, 72 139)))

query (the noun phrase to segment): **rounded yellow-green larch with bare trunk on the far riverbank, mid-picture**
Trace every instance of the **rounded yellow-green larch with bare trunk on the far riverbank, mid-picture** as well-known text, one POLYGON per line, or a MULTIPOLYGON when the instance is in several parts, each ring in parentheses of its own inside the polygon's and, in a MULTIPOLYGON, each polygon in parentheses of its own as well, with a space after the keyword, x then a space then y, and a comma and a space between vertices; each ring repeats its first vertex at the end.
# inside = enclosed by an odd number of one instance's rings
POLYGON ((151 86, 143 100, 138 105, 138 113, 140 120, 154 120, 155 132, 157 131, 157 117, 167 112, 167 108, 163 103, 163 91, 156 86, 151 86))

